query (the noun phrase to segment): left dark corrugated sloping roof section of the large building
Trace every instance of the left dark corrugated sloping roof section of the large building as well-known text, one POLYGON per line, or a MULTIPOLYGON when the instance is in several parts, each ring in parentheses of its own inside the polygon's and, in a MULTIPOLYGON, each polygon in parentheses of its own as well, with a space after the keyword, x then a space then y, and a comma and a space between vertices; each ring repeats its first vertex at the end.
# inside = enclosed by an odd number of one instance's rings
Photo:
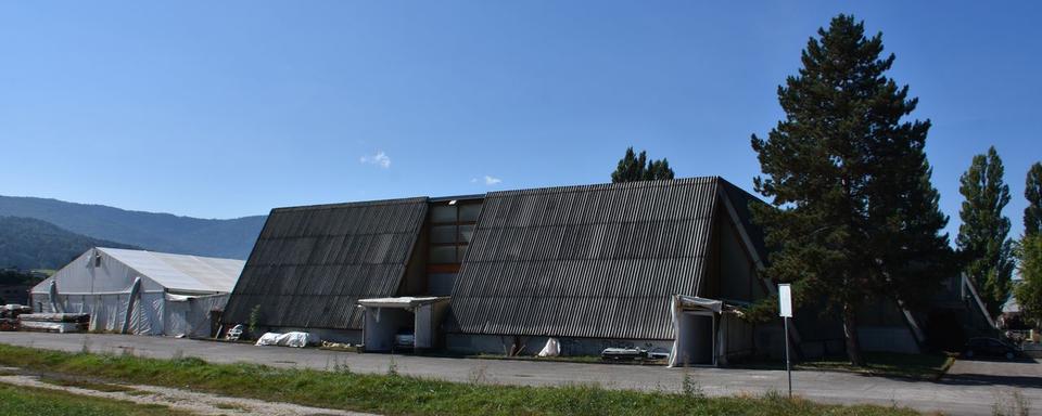
POLYGON ((427 198, 271 211, 225 312, 263 326, 359 329, 360 298, 394 296, 427 216, 427 198))

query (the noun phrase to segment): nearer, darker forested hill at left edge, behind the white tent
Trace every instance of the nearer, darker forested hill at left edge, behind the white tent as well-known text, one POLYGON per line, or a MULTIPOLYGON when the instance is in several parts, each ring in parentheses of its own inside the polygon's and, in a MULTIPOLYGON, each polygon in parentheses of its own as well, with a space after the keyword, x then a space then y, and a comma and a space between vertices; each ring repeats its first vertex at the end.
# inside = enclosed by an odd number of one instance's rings
POLYGON ((0 217, 0 268, 60 269, 91 247, 137 248, 33 218, 0 217))

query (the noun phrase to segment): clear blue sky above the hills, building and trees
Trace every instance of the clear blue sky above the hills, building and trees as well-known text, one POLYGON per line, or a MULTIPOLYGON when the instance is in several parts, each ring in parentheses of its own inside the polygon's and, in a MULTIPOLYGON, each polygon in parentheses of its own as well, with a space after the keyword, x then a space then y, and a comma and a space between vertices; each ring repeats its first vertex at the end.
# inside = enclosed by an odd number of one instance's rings
POLYGON ((0 194, 205 218, 597 183, 626 146, 751 190, 837 13, 920 99, 942 208, 995 145, 1020 234, 1038 2, 4 2, 0 194))

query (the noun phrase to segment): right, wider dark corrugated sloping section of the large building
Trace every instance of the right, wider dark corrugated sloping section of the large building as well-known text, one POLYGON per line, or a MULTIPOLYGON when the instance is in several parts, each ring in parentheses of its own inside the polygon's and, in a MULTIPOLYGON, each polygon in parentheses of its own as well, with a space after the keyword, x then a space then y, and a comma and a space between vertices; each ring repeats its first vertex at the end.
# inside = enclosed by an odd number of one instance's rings
POLYGON ((488 194, 448 330, 671 339, 670 296, 699 295, 724 185, 692 178, 488 194))

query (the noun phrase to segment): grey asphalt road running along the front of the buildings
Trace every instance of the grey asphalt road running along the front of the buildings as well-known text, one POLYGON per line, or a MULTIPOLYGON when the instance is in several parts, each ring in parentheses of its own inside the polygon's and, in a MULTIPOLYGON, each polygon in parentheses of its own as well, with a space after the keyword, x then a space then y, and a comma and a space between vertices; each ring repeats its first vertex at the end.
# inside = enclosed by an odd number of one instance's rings
MULTIPOLYGON (((505 385, 597 384, 610 389, 679 391, 684 375, 690 374, 710 395, 786 389, 782 370, 392 356, 122 335, 0 333, 0 342, 74 352, 84 348, 92 352, 128 351, 161 359, 198 356, 212 363, 250 362, 317 369, 346 365, 358 373, 386 373, 393 362, 399 373, 411 376, 505 385)), ((801 370, 792 373, 792 384, 796 394, 817 402, 897 404, 950 415, 990 415, 996 402, 1008 402, 1013 391, 1019 391, 1034 413, 1042 412, 1042 364, 1034 361, 960 361, 937 382, 801 370)))

